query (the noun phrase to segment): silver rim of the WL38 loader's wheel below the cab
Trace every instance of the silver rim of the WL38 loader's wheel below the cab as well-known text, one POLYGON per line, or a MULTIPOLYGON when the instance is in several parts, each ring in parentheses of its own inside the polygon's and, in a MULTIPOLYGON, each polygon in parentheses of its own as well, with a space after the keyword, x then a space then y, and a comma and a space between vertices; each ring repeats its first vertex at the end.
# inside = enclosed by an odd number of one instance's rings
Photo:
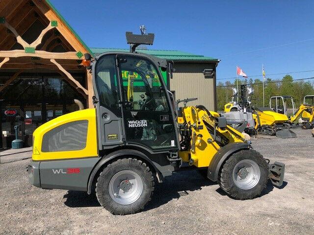
POLYGON ((132 170, 121 170, 109 182, 109 195, 113 201, 121 205, 135 202, 143 191, 141 177, 132 170))

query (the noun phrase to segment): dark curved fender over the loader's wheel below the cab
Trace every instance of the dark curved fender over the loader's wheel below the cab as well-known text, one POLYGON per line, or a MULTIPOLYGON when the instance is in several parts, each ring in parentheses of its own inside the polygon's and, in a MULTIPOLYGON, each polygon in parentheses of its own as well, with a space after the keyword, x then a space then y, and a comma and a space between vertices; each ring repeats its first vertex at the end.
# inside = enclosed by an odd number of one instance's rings
MULTIPOLYGON (((108 155, 105 155, 94 167, 93 171, 90 174, 89 180, 88 180, 88 186, 87 186, 87 193, 90 194, 91 190, 92 190, 92 185, 93 185, 93 181, 95 176, 97 177, 97 172, 99 171, 99 169, 102 168, 102 166, 106 163, 108 163, 109 161, 113 160, 113 159, 119 159, 122 156, 135 156, 138 157, 138 160, 145 160, 146 162, 148 162, 150 165, 153 165, 154 169, 151 169, 153 171, 155 171, 157 173, 157 178, 159 182, 162 182, 163 176, 164 174, 162 173, 162 167, 153 162, 151 159, 149 159, 144 153, 139 152, 137 150, 133 150, 133 149, 120 149, 117 151, 114 151, 112 153, 109 153, 108 155), (160 168, 160 170, 158 169, 160 168)), ((168 175, 166 173, 166 175, 168 175)), ((165 175, 165 176, 166 176, 165 175)))

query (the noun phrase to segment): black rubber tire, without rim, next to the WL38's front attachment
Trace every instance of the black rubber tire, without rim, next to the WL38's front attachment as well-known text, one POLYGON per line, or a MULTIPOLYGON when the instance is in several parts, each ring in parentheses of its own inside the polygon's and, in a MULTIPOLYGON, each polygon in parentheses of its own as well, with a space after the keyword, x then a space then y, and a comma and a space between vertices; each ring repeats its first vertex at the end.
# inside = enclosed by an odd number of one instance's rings
POLYGON ((219 186, 232 198, 239 200, 253 199, 261 195, 262 190, 266 188, 268 181, 268 164, 262 155, 253 150, 241 150, 232 154, 222 165, 218 175, 219 186), (260 169, 260 179, 258 183, 250 189, 242 189, 236 186, 233 179, 233 170, 237 163, 242 160, 254 161, 260 169))

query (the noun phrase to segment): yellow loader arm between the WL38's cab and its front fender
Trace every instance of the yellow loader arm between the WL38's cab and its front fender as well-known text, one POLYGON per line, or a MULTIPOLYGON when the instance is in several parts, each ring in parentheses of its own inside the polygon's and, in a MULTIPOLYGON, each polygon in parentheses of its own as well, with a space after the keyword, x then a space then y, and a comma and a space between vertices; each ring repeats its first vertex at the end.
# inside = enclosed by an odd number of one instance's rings
POLYGON ((196 167, 207 167, 217 151, 233 142, 245 142, 240 132, 228 126, 226 119, 216 112, 189 106, 182 109, 179 124, 191 130, 190 149, 179 152, 183 162, 196 167), (225 123, 222 123, 224 122, 225 123))

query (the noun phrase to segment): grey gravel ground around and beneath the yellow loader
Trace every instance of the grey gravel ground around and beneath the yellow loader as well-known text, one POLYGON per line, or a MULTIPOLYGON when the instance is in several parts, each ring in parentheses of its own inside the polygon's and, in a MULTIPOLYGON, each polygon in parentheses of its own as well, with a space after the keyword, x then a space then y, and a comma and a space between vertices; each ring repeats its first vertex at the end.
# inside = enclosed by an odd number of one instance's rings
POLYGON ((145 211, 115 216, 84 192, 31 187, 29 160, 0 164, 0 234, 314 234, 314 138, 253 139, 271 162, 286 164, 285 184, 259 198, 229 198, 198 173, 174 173, 158 184, 145 211))

